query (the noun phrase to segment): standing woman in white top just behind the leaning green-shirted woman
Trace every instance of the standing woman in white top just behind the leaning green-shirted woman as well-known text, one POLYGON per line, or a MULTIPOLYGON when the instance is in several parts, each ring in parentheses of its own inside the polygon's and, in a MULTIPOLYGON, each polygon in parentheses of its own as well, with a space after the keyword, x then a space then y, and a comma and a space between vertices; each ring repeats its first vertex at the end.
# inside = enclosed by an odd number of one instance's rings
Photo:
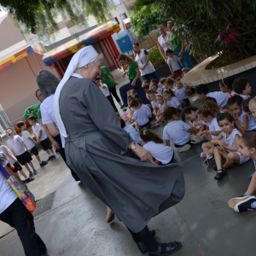
POLYGON ((140 44, 134 43, 133 49, 136 52, 135 61, 137 61, 139 65, 139 69, 141 71, 141 75, 143 76, 144 80, 157 79, 159 77, 155 73, 155 69, 153 64, 150 62, 150 55, 146 49, 141 49, 140 44))

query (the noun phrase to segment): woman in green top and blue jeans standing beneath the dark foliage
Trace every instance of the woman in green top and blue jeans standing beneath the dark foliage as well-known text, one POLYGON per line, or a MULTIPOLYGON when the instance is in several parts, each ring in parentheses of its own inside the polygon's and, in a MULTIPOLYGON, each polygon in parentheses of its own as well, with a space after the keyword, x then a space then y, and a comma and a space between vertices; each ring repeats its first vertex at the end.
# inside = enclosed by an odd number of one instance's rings
POLYGON ((175 31, 175 27, 171 21, 167 22, 167 28, 170 31, 168 41, 170 42, 171 49, 174 51, 175 55, 180 57, 180 61, 178 61, 180 66, 192 69, 193 64, 190 60, 189 50, 185 49, 185 40, 183 36, 181 36, 181 38, 177 37, 177 31, 175 31))

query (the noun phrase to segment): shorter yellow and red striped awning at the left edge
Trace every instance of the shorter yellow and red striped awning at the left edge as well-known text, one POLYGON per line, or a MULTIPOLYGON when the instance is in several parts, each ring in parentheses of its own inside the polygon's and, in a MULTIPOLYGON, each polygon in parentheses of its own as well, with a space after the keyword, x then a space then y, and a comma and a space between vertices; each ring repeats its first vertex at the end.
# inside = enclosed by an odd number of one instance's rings
POLYGON ((0 70, 2 70, 4 67, 9 67, 9 65, 15 63, 16 61, 20 61, 22 58, 26 57, 32 52, 38 53, 40 55, 44 55, 44 49, 42 49, 41 44, 30 45, 25 49, 20 50, 15 55, 11 55, 4 61, 1 61, 0 70))

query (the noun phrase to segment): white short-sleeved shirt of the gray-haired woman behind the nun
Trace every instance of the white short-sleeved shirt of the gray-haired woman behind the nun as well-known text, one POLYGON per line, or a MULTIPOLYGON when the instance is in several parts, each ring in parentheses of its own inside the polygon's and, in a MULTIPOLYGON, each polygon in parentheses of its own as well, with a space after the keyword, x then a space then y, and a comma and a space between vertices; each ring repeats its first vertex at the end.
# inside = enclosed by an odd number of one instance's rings
POLYGON ((50 124, 52 122, 57 125, 57 121, 55 119, 55 111, 54 111, 54 103, 55 96, 51 95, 45 98, 44 102, 40 105, 40 110, 42 114, 42 122, 44 125, 50 124))

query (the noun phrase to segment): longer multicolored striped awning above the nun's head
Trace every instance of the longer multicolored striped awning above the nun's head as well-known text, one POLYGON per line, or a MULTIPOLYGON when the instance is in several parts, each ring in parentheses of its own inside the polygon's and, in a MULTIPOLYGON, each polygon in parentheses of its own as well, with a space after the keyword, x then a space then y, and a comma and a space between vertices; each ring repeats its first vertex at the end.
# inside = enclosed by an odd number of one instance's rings
POLYGON ((51 63, 66 58, 68 55, 76 53, 79 49, 88 45, 95 44, 103 38, 107 38, 108 36, 115 32, 119 32, 120 30, 121 29, 117 22, 108 21, 107 24, 98 26, 90 32, 86 32, 79 36, 79 38, 75 38, 66 44, 62 44, 56 47, 55 49, 51 49, 43 57, 44 64, 49 66, 51 63))

